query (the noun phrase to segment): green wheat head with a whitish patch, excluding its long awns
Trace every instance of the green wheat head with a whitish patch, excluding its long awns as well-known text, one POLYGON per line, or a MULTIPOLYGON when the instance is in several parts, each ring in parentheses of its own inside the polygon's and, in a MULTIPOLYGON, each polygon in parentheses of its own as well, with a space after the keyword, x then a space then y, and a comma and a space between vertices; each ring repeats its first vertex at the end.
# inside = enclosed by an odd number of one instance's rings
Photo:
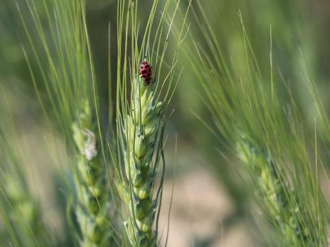
POLYGON ((107 246, 111 232, 105 219, 109 211, 106 173, 98 153, 88 101, 83 104, 72 129, 77 147, 74 211, 81 231, 80 246, 107 246))

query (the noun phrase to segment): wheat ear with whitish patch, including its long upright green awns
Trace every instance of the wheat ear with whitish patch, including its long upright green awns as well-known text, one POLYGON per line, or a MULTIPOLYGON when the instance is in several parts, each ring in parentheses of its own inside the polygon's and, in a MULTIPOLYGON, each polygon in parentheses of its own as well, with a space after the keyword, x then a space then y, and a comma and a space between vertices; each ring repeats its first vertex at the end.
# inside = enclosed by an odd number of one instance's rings
MULTIPOLYGON (((19 6, 23 28, 34 54, 26 56, 32 81, 45 116, 67 142, 68 222, 80 246, 109 246, 113 230, 109 221, 110 192, 107 185, 107 157, 102 145, 103 132, 98 109, 98 92, 93 57, 85 20, 85 1, 42 1, 47 32, 39 17, 36 1, 26 1, 38 38, 30 35, 30 26, 19 6), (36 47, 41 43, 42 50, 36 47), (47 95, 44 98, 41 89, 47 95), (47 109, 52 109, 48 112, 47 109), (57 120, 56 124, 50 118, 57 120), (71 158, 70 158, 71 157, 71 158), (69 189, 70 184, 73 188, 69 189)), ((26 52, 25 52, 26 54, 26 52)))

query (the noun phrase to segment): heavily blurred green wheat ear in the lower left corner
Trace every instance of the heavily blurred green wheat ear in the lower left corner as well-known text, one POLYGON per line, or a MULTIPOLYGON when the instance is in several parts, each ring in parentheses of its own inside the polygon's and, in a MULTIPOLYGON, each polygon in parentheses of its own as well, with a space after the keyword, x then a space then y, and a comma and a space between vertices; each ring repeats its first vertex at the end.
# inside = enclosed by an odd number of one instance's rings
POLYGON ((0 123, 0 218, 5 230, 0 231, 0 244, 5 246, 50 246, 52 240, 43 219, 41 204, 32 193, 25 174, 23 145, 20 143, 14 114, 13 100, 8 89, 1 86, 0 109, 6 116, 0 123), (10 236, 10 237, 8 237, 10 236))

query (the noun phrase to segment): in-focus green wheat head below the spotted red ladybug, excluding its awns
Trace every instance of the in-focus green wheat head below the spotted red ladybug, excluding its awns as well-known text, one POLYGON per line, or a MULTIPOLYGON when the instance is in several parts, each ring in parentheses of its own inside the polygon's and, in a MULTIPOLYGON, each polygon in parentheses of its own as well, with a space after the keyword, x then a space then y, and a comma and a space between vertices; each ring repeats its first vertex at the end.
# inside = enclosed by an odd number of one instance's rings
POLYGON ((153 200, 153 191, 159 163, 153 165, 152 158, 162 117, 162 103, 155 101, 152 87, 143 85, 142 79, 135 77, 134 84, 131 114, 126 116, 122 126, 127 144, 124 151, 125 175, 129 183, 117 182, 116 185, 129 211, 124 225, 131 244, 155 246, 152 226, 159 198, 153 200))

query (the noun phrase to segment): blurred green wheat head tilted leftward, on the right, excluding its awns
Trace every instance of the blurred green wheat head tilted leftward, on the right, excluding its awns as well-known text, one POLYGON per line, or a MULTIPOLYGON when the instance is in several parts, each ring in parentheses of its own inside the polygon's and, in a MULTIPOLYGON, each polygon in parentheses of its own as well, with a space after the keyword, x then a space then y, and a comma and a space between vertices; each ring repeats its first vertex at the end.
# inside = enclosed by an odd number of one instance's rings
POLYGON ((289 197, 293 192, 281 181, 281 175, 267 151, 256 148, 245 135, 236 144, 242 162, 252 171, 258 187, 259 196, 265 203, 269 215, 283 234, 284 244, 300 246, 308 243, 307 228, 299 222, 298 204, 292 204, 289 197))

